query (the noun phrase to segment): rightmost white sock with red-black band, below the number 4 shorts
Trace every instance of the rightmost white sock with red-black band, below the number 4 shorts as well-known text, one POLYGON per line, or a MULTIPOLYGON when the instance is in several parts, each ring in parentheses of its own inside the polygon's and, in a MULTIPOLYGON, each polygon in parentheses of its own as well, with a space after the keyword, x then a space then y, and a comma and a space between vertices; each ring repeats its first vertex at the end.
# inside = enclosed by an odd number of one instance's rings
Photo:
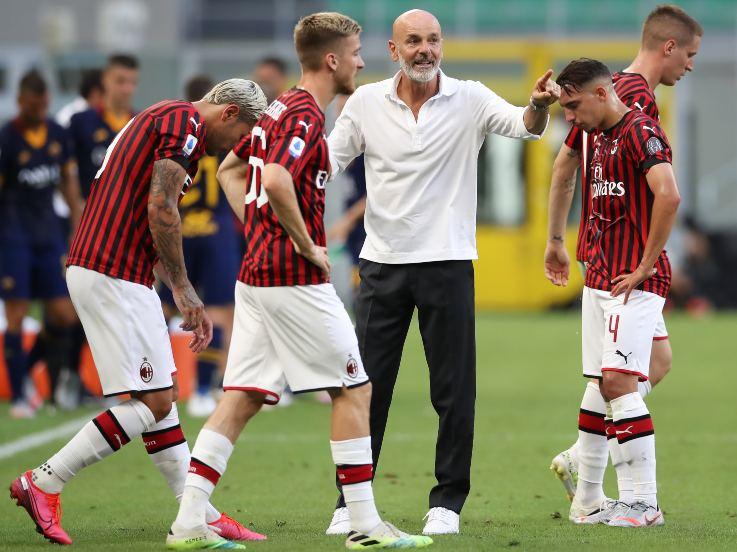
POLYGON ((657 507, 655 431, 639 393, 612 400, 612 413, 622 456, 632 474, 633 500, 657 507))

